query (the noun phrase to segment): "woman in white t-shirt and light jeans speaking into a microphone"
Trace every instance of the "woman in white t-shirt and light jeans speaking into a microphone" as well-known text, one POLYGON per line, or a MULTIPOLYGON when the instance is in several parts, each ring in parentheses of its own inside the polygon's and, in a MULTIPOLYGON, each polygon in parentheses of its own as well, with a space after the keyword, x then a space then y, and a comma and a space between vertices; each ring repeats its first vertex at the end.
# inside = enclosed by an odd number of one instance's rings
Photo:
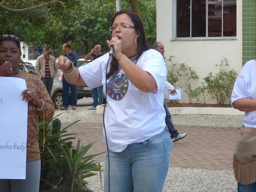
POLYGON ((57 68, 70 84, 103 85, 106 92, 104 191, 161 192, 172 150, 163 106, 165 62, 148 49, 142 21, 133 12, 116 12, 109 30, 107 43, 114 46, 109 63, 107 53, 77 69, 60 56, 57 68))

